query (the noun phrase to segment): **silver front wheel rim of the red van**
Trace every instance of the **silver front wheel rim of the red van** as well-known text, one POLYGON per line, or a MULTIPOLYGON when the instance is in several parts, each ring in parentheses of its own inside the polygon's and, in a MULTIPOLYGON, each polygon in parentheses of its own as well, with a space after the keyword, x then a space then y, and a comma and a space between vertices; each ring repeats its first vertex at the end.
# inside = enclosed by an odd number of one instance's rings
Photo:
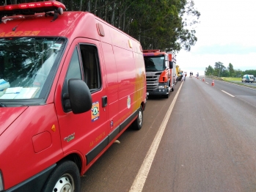
POLYGON ((64 174, 56 182, 53 192, 73 192, 75 184, 73 177, 70 174, 64 174))

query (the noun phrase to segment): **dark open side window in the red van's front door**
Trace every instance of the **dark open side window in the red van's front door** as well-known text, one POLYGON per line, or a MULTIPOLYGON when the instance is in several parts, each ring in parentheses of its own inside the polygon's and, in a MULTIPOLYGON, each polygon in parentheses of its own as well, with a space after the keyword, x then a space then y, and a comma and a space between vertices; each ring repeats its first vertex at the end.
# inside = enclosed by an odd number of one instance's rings
POLYGON ((101 87, 97 48, 93 45, 80 44, 80 51, 84 69, 84 82, 91 92, 95 92, 101 87))

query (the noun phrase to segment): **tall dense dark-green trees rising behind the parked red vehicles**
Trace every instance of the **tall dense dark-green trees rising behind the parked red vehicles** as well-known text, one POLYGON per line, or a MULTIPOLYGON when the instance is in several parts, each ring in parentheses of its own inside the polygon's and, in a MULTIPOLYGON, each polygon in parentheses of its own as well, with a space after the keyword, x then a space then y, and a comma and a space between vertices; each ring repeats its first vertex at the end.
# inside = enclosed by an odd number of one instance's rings
MULTIPOLYGON (((36 0, 0 0, 0 5, 36 0)), ((43 0, 41 0, 43 1, 43 0)), ((131 35, 143 49, 191 50, 200 12, 194 0, 59 0, 67 10, 92 12, 131 35)))

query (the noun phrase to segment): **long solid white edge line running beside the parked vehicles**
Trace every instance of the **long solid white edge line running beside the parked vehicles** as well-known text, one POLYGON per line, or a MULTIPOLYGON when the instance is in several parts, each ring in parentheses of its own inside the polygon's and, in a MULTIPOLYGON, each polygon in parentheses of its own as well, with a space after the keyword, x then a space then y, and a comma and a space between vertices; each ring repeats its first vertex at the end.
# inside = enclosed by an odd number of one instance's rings
POLYGON ((172 109, 175 106, 175 102, 176 102, 176 100, 178 98, 178 95, 180 93, 180 89, 181 89, 181 87, 183 85, 183 82, 180 85, 180 88, 178 89, 178 92, 175 95, 174 99, 172 100, 171 105, 169 106, 167 114, 165 115, 164 120, 161 123, 160 128, 158 129, 158 132, 156 133, 156 136, 155 136, 155 138, 153 140, 153 143, 150 146, 150 149, 148 149, 148 151, 147 151, 147 155, 146 155, 145 159, 143 160, 142 166, 140 167, 139 172, 136 175, 134 183, 133 183, 133 185, 131 185, 131 188, 130 188, 129 192, 139 192, 139 191, 142 191, 142 189, 143 189, 143 187, 145 185, 145 182, 147 180, 147 174, 150 171, 150 167, 151 167, 151 165, 153 163, 153 160, 155 158, 156 151, 157 151, 158 146, 160 144, 160 141, 161 141, 161 138, 163 136, 164 130, 167 127, 167 122, 169 120, 170 115, 172 114, 172 109))

